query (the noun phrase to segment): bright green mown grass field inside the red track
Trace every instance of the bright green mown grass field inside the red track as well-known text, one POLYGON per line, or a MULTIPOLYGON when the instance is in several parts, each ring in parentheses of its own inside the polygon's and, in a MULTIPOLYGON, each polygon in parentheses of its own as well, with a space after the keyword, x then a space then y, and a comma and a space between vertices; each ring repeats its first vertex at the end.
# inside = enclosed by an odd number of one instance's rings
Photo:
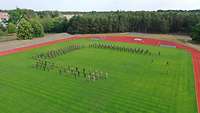
POLYGON ((83 48, 52 59, 109 73, 98 81, 33 68, 35 54, 91 42, 96 41, 74 40, 0 57, 0 113, 197 112, 192 59, 183 50, 113 43, 161 55, 83 48))

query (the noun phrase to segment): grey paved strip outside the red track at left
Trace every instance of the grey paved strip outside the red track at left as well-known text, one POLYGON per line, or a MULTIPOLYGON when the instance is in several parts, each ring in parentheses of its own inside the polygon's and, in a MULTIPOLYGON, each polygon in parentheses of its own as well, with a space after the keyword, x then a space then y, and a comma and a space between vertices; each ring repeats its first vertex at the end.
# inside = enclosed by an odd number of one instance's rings
POLYGON ((44 42, 49 42, 53 40, 59 40, 67 38, 71 35, 67 33, 59 33, 59 34, 48 34, 43 38, 34 38, 33 40, 13 40, 7 42, 0 42, 0 52, 6 50, 12 50, 15 48, 21 48, 26 46, 31 46, 35 44, 40 44, 44 42))

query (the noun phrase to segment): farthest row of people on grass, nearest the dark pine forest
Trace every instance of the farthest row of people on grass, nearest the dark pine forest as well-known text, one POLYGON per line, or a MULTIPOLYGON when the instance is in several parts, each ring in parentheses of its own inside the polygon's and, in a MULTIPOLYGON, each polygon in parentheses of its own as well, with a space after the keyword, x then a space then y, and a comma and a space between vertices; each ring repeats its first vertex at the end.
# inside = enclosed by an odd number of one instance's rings
POLYGON ((91 48, 113 49, 113 50, 117 50, 117 51, 120 51, 120 52, 129 52, 129 53, 151 55, 151 52, 148 49, 129 48, 129 47, 124 47, 124 46, 116 46, 116 45, 113 45, 113 44, 94 43, 94 44, 90 44, 89 47, 91 47, 91 48))

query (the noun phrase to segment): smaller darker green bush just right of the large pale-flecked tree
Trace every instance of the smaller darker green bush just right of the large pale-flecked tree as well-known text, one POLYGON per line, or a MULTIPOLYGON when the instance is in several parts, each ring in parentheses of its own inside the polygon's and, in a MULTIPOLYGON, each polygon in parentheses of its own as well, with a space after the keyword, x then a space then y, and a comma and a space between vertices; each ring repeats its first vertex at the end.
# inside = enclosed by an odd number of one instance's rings
POLYGON ((39 21, 31 20, 31 26, 33 29, 33 32, 32 32, 33 37, 43 37, 44 36, 44 28, 39 21))

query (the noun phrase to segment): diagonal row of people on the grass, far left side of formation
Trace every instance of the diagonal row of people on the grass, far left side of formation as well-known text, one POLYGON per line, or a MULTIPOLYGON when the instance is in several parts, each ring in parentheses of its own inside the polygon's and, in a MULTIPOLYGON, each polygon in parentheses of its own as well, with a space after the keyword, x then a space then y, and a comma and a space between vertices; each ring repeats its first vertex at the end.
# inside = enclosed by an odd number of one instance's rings
POLYGON ((47 53, 41 53, 38 54, 36 56, 33 56, 34 59, 50 59, 50 58, 55 58, 61 55, 64 55, 66 53, 69 53, 71 51, 80 49, 82 46, 79 44, 74 44, 74 45, 70 45, 64 48, 59 48, 57 50, 50 50, 47 53))

